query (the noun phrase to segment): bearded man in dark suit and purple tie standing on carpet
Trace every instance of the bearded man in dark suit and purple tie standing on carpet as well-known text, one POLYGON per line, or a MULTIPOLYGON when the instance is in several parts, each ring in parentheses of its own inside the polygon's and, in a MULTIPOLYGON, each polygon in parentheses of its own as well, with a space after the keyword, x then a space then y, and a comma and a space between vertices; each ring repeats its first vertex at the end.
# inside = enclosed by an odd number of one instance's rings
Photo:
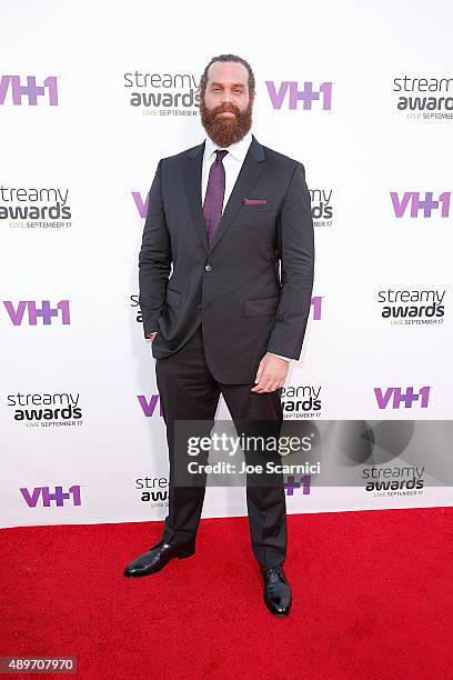
MULTIPOLYGON (((128 577, 195 552, 204 484, 178 483, 177 422, 212 424, 222 394, 235 423, 280 431, 281 388, 290 360, 300 357, 311 304, 313 221, 303 164, 252 134, 255 81, 244 59, 211 59, 199 93, 207 138, 159 161, 139 254, 170 486, 162 538, 128 564, 128 577)), ((264 602, 288 616, 283 480, 248 481, 246 506, 264 602)))

